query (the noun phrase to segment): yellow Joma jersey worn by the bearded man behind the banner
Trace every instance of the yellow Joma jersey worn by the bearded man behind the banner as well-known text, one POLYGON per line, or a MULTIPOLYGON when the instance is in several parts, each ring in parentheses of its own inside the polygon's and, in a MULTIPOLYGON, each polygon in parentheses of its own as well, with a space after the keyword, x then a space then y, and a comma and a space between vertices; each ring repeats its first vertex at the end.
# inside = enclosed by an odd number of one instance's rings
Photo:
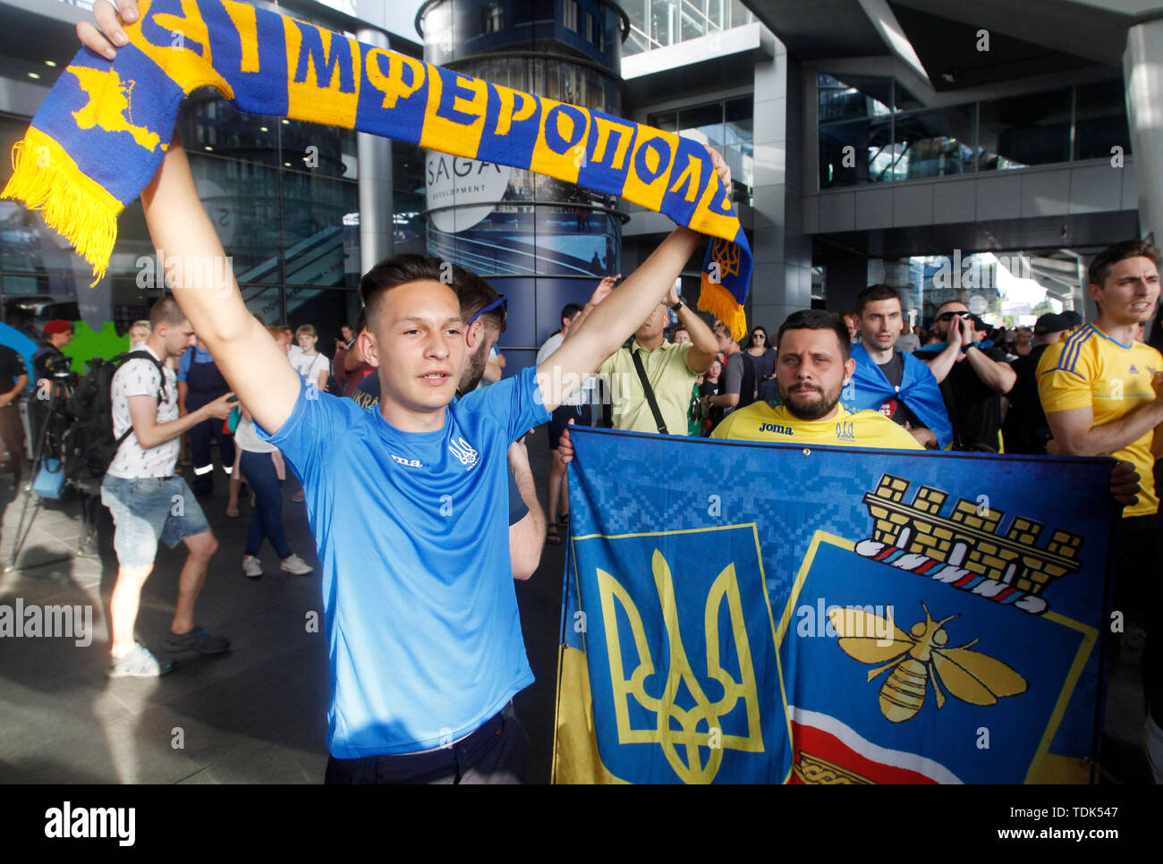
POLYGON ((764 441, 776 444, 828 444, 871 447, 882 450, 923 450, 925 448, 878 410, 855 414, 843 405, 830 420, 800 420, 784 405, 751 402, 734 410, 715 427, 712 438, 764 441))

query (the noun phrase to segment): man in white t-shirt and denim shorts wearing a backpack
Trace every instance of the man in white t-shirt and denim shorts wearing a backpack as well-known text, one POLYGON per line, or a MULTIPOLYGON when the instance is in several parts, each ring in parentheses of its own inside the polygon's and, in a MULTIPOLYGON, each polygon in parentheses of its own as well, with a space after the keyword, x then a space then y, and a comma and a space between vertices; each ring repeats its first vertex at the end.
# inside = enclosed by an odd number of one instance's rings
POLYGON ((170 671, 170 663, 158 663, 134 638, 137 605, 154 570, 158 541, 171 548, 184 542, 190 550, 178 577, 178 602, 166 649, 173 654, 221 654, 230 647, 228 640, 194 622, 194 604, 206 584, 217 541, 174 466, 181 434, 209 419, 221 423, 237 402, 227 393, 179 417, 177 377, 165 362, 194 344, 194 329, 171 297, 154 304, 149 320, 152 331, 141 349, 149 358, 124 360, 112 384, 113 434, 117 438, 128 435, 101 481, 101 502, 113 515, 117 554, 117 581, 109 598, 110 678, 154 678, 170 671))

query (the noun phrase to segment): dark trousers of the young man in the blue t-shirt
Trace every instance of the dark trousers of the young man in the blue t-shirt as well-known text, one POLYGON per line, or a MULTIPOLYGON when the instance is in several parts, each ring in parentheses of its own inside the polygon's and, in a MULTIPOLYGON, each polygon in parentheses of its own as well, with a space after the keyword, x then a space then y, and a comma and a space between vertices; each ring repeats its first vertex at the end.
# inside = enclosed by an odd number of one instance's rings
POLYGON ((327 759, 329 784, 515 784, 525 778, 529 737, 505 706, 468 737, 449 747, 405 756, 327 759))

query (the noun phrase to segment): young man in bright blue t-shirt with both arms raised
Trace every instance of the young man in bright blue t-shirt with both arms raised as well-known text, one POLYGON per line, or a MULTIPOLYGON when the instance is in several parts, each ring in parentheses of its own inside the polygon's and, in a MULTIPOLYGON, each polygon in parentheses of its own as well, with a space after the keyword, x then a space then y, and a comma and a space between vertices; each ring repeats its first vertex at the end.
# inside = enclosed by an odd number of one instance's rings
MULTIPOLYGON (((142 203, 167 255, 222 255, 177 137, 142 203)), ((448 266, 380 263, 361 280, 358 336, 379 369, 378 410, 308 390, 236 287, 223 299, 178 279, 183 310, 306 490, 331 666, 328 780, 520 779, 527 742, 511 700, 533 673, 509 565, 506 452, 621 347, 700 242, 676 229, 538 367, 462 399, 466 334, 448 266)), ((454 281, 466 276, 451 269, 454 281)))

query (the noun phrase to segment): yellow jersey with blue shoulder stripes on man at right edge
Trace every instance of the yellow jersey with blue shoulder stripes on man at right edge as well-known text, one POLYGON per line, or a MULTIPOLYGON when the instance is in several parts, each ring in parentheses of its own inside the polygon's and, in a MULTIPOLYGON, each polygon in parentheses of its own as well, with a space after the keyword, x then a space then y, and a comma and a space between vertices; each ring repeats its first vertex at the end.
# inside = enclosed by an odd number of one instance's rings
MULTIPOLYGON (((1037 390, 1042 409, 1049 414, 1090 406, 1094 424, 1118 420, 1155 399, 1151 372, 1163 370, 1163 356, 1150 345, 1115 342, 1094 324, 1086 324, 1069 338, 1046 349, 1037 364, 1037 390)), ((1158 510, 1155 494, 1155 457, 1148 431, 1118 452, 1139 471, 1139 504, 1126 507, 1123 516, 1143 516, 1158 510)))

